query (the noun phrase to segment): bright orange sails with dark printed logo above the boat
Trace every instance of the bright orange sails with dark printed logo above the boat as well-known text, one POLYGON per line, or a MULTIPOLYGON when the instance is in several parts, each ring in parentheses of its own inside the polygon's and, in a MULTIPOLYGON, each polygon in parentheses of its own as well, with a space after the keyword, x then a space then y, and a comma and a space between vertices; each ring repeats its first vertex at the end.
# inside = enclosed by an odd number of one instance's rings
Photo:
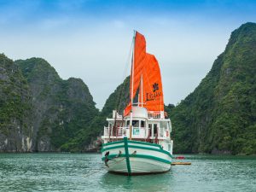
MULTIPOLYGON (((148 111, 163 111, 164 99, 160 67, 154 55, 146 53, 146 41, 139 32, 136 32, 133 54, 134 61, 131 66, 130 79, 131 101, 136 96, 137 90, 140 89, 138 97, 141 102, 140 106, 147 108, 148 111)), ((126 106, 124 116, 130 112, 131 102, 126 106)))

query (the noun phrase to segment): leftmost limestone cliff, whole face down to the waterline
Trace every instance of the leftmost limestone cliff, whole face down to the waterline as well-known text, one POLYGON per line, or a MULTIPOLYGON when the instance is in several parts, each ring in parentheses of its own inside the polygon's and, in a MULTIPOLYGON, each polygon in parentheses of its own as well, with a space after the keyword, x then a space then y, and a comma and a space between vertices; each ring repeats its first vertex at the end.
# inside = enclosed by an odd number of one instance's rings
POLYGON ((0 54, 0 152, 32 151, 32 97, 20 69, 0 54))

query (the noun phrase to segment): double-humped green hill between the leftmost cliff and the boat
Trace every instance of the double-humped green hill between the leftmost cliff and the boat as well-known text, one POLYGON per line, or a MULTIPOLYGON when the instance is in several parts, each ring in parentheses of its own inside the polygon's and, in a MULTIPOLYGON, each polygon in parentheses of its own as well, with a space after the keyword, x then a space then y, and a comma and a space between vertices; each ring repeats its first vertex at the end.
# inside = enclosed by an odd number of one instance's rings
POLYGON ((81 79, 62 80, 41 58, 15 63, 32 92, 33 126, 38 133, 35 150, 81 151, 83 143, 77 137, 89 131, 98 115, 88 87, 81 79), (45 138, 50 143, 44 143, 45 138))

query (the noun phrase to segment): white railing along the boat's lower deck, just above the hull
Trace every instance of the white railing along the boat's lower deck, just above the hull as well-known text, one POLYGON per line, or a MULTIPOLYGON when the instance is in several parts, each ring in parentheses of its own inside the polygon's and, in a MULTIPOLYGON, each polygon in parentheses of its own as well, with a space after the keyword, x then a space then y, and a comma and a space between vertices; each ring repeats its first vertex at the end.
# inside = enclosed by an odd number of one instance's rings
MULTIPOLYGON (((131 129, 131 137, 133 138, 150 138, 154 139, 155 137, 158 138, 167 138, 169 137, 169 131, 167 132, 164 128, 158 128, 157 136, 156 134, 152 134, 153 130, 149 128, 139 128, 139 127, 132 127, 131 129), (148 137, 149 135, 149 137, 148 137)), ((122 138, 122 137, 129 137, 130 136, 130 128, 129 127, 117 127, 116 129, 104 127, 104 136, 105 138, 122 138), (110 133, 109 133, 110 131, 110 133)))

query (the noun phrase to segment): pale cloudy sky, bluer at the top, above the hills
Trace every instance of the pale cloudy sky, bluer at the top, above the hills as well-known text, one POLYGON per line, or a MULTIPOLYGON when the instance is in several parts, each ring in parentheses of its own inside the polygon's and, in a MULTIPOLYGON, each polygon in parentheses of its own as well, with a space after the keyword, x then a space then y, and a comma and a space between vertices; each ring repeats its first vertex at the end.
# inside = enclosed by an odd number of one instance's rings
POLYGON ((160 63, 165 103, 177 104, 247 21, 256 22, 256 1, 0 0, 0 52, 42 57, 62 79, 83 79, 101 109, 130 73, 135 29, 160 63))

